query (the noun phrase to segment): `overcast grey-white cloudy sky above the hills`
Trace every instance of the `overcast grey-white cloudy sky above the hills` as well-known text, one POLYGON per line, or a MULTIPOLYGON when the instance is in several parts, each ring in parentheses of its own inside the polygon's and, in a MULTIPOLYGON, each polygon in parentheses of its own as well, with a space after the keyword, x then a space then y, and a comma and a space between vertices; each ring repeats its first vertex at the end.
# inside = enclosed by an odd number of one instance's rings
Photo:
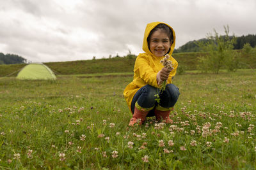
POLYGON ((146 25, 161 21, 176 47, 216 29, 256 34, 255 0, 1 0, 0 52, 32 62, 88 60, 143 52, 146 25))

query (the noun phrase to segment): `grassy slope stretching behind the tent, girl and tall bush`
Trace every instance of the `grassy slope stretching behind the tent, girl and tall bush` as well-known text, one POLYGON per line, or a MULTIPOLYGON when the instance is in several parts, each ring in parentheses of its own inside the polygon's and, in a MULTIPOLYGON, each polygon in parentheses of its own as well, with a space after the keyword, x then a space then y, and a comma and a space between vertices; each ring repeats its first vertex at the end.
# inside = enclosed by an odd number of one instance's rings
MULTIPOLYGON (((239 51, 238 51, 239 52, 239 51)), ((179 62, 179 67, 185 70, 196 70, 197 57, 205 55, 200 52, 173 53, 173 57, 179 62)), ((135 57, 115 57, 111 59, 76 60, 68 62, 44 63, 57 74, 93 74, 93 73, 131 73, 133 71, 135 57)), ((25 64, 0 65, 0 77, 16 76, 19 69, 25 64), (16 72, 15 72, 16 71, 16 72)), ((179 69, 178 67, 178 69, 179 69)), ((242 55, 241 68, 256 68, 256 56, 242 55)))

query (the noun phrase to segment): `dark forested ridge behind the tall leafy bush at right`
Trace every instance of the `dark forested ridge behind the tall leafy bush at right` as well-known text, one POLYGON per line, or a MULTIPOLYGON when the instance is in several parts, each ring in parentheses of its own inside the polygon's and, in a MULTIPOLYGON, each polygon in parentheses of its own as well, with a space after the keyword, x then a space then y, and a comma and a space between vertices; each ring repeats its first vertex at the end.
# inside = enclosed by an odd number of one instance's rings
MULTIPOLYGON (((225 36, 220 36, 224 38, 225 36)), ((229 36, 229 39, 234 38, 235 36, 229 36)), ((173 53, 182 53, 182 52, 200 52, 201 48, 198 43, 207 43, 209 39, 202 38, 198 40, 189 41, 185 45, 180 46, 178 49, 175 49, 173 53)), ((248 34, 247 36, 238 36, 236 37, 236 42, 234 43, 234 50, 241 50, 243 46, 248 43, 253 48, 256 46, 256 34, 248 34)))

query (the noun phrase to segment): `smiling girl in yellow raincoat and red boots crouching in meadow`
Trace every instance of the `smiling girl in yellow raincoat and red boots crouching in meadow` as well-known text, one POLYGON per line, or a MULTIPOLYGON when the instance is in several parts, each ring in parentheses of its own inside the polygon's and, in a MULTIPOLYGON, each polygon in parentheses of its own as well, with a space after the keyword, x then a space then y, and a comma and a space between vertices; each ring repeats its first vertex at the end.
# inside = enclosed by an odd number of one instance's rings
POLYGON ((178 62, 170 57, 173 70, 169 71, 163 67, 161 60, 164 55, 172 55, 175 46, 175 32, 172 27, 163 22, 152 22, 147 25, 143 39, 143 50, 134 64, 134 78, 124 90, 125 101, 131 110, 132 118, 129 126, 136 122, 143 124, 146 117, 156 116, 156 120, 172 123, 170 111, 179 97, 179 88, 172 84, 178 62), (159 92, 163 81, 166 87, 159 92), (160 102, 156 101, 156 94, 160 102))

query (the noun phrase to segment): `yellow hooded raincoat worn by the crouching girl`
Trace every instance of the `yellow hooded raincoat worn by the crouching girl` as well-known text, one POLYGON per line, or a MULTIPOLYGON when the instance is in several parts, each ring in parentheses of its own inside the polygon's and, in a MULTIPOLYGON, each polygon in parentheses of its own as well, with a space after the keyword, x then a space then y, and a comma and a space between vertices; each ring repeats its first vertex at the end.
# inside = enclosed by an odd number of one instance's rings
MULTIPOLYGON (((129 85, 127 85, 127 87, 124 89, 125 101, 127 102, 130 111, 131 111, 132 98, 141 87, 145 85, 151 85, 153 87, 158 88, 156 75, 163 68, 163 65, 160 63, 160 61, 164 58, 164 56, 156 57, 152 52, 150 52, 148 48, 147 37, 150 31, 154 29, 156 25, 161 23, 163 22, 152 22, 148 24, 145 29, 143 47, 142 47, 145 53, 140 53, 136 58, 136 61, 134 64, 133 81, 129 83, 129 85)), ((170 27, 170 25, 168 26, 170 27)), ((170 27, 170 29, 172 29, 172 27, 170 27)), ((173 43, 172 43, 169 55, 170 55, 170 60, 172 60, 174 69, 170 73, 167 83, 172 83, 172 77, 175 76, 177 67, 178 67, 177 60, 173 59, 173 57, 171 56, 175 46, 175 32, 173 31, 173 29, 172 29, 172 32, 173 32, 173 43)))

